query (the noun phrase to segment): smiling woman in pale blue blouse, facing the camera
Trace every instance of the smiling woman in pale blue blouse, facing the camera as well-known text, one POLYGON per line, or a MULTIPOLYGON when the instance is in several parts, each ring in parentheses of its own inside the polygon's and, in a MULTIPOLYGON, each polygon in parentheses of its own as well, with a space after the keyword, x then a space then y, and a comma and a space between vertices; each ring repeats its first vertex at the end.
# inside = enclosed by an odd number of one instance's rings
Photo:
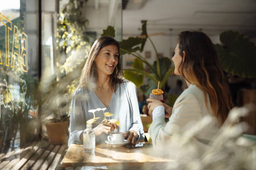
POLYGON ((119 43, 107 36, 94 42, 79 86, 73 93, 69 145, 82 143, 86 121, 93 118, 88 110, 97 108, 106 108, 105 112, 114 114, 111 119, 119 120, 121 126, 118 129, 115 123, 103 123, 103 111, 96 111, 95 116, 100 117, 99 123, 93 124, 96 142, 106 140, 107 134, 114 129, 124 132, 125 139, 132 145, 144 139, 135 84, 123 78, 119 43), (92 82, 96 84, 95 88, 92 88, 92 82))

